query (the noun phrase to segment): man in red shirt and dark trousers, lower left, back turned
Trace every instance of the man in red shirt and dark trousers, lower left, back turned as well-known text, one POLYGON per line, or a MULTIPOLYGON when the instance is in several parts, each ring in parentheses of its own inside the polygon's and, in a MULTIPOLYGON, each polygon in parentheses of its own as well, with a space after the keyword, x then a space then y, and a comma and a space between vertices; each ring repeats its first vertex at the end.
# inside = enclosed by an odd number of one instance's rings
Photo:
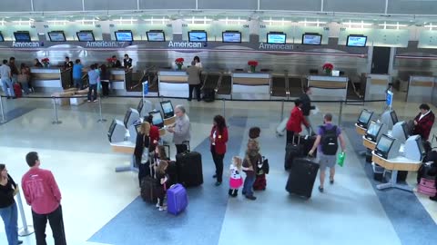
POLYGON ((21 180, 25 201, 32 208, 36 245, 46 245, 47 220, 52 228, 55 245, 66 245, 66 233, 62 218, 61 191, 51 171, 39 168, 37 152, 25 155, 30 170, 21 180))

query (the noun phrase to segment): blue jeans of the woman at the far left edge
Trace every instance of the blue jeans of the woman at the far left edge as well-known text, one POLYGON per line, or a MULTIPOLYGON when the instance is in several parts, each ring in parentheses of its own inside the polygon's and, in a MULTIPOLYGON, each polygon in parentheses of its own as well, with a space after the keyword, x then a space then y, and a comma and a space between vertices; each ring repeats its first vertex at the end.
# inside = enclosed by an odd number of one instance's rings
POLYGON ((0 216, 5 222, 5 231, 9 245, 18 244, 18 211, 16 203, 7 208, 0 209, 0 216))

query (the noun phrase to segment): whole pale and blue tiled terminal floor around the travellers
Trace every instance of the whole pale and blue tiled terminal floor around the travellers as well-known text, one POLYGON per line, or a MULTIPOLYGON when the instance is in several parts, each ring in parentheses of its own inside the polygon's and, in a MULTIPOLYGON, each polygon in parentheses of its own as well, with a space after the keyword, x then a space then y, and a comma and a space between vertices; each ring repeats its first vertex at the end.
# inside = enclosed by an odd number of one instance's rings
MULTIPOLYGON (((198 189, 188 190, 190 204, 182 215, 158 212, 137 198, 136 173, 114 171, 116 166, 127 164, 129 156, 111 152, 107 142, 111 119, 122 120, 127 108, 137 107, 137 102, 138 99, 105 99, 103 117, 108 122, 104 123, 97 122, 98 103, 60 107, 62 123, 54 125, 51 101, 4 100, 9 122, 0 125, 0 162, 7 164, 15 181, 20 181, 27 170, 25 153, 39 152, 43 167, 54 172, 63 194, 68 244, 432 244, 423 233, 408 232, 407 238, 400 233, 403 217, 392 217, 396 214, 392 209, 399 203, 391 205, 391 201, 383 200, 389 196, 384 193, 390 190, 377 192, 373 188, 362 157, 355 153, 352 142, 359 138, 352 132, 345 133, 347 159, 345 166, 338 169, 336 183, 327 186, 325 193, 313 191, 309 201, 290 196, 285 191, 288 175, 283 171, 285 139, 275 134, 281 118, 280 102, 173 100, 174 105, 182 103, 188 109, 191 147, 202 153, 205 182, 198 189), (269 158, 271 171, 268 190, 257 193, 257 201, 241 196, 228 200, 226 181, 220 187, 213 186, 213 163, 205 139, 212 118, 218 113, 225 114, 231 135, 225 169, 232 155, 243 155, 249 127, 261 127, 261 152, 269 158)), ((327 112, 334 113, 334 122, 338 122, 339 104, 316 105, 320 113, 311 116, 313 124, 320 124, 321 113, 327 112)), ((285 103, 284 116, 288 116, 291 107, 292 103, 285 103)), ((381 113, 383 104, 344 105, 341 119, 346 131, 364 107, 381 113)), ((400 119, 418 113, 415 103, 396 101, 393 107, 400 119)), ((415 178, 414 173, 409 175, 415 178)), ((425 233, 434 232, 437 203, 420 194, 400 195, 419 200, 411 207, 414 211, 403 214, 411 215, 411 227, 422 227, 420 222, 424 221, 425 227, 433 228, 425 233), (428 218, 414 223, 418 213, 428 218)), ((25 217, 31 223, 27 206, 25 217)), ((25 244, 35 244, 34 236, 23 240, 25 244)), ((2 223, 0 244, 4 241, 2 223)))

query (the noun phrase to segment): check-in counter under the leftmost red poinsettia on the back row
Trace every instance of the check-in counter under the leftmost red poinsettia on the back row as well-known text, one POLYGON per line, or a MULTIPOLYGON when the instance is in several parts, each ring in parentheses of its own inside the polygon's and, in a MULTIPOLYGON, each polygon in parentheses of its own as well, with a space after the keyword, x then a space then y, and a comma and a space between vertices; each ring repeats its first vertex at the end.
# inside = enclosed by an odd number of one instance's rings
POLYGON ((159 71, 159 95, 188 98, 188 75, 185 71, 159 71))

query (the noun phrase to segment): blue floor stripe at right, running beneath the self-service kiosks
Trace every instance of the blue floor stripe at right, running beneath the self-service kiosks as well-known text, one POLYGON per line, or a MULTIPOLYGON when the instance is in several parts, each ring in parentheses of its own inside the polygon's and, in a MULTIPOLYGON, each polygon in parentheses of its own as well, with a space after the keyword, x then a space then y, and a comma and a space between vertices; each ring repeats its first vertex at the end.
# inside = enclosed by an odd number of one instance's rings
MULTIPOLYGON (((346 125, 345 132, 355 151, 365 150, 361 137, 357 137, 353 123, 343 123, 343 125, 346 125)), ((373 180, 371 164, 367 163, 364 157, 359 157, 359 159, 401 243, 405 245, 435 244, 437 225, 414 193, 399 189, 384 191, 376 189, 376 185, 381 182, 373 180)), ((415 173, 410 172, 409 174, 415 173)))

